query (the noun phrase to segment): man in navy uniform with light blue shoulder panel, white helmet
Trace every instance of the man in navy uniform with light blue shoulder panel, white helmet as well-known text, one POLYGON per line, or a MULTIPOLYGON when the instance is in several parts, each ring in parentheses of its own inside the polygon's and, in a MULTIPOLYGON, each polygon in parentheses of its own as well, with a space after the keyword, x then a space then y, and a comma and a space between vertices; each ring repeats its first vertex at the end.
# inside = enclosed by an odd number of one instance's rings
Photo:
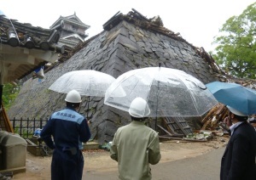
POLYGON ((49 117, 40 137, 50 149, 54 149, 51 179, 81 180, 84 169, 82 142, 86 143, 90 139, 90 128, 84 116, 77 112, 82 102, 79 92, 70 91, 65 101, 66 109, 49 117))

